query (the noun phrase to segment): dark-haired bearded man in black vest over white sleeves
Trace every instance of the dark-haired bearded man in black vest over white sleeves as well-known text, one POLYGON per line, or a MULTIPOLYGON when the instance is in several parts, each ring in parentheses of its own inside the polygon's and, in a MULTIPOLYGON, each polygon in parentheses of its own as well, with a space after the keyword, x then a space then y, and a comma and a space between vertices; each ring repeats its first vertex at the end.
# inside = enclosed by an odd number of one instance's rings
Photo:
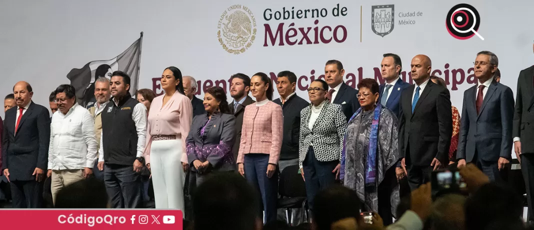
POLYGON ((139 172, 145 164, 146 107, 128 92, 130 76, 115 71, 110 82, 111 103, 101 114, 98 169, 104 171, 112 208, 141 208, 143 183, 139 172))

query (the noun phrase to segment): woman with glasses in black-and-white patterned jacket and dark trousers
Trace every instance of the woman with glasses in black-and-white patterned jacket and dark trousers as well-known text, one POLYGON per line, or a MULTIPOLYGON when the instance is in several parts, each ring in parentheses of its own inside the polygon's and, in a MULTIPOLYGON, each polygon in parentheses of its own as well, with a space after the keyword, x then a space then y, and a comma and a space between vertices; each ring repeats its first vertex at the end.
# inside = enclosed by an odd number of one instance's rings
POLYGON ((299 163, 311 210, 313 197, 339 178, 343 137, 347 130, 347 118, 341 105, 331 104, 326 99, 327 90, 325 81, 311 82, 308 88, 311 104, 301 111, 299 163))

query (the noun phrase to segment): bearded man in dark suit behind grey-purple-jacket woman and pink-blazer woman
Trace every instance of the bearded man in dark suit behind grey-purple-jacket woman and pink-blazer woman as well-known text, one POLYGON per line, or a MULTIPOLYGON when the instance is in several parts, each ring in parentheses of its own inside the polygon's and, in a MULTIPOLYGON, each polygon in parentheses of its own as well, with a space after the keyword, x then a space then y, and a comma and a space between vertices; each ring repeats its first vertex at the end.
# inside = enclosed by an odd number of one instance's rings
POLYGON ((230 96, 232 96, 233 101, 229 106, 232 114, 235 116, 235 143, 232 147, 232 153, 234 155, 234 161, 237 161, 245 106, 253 104, 256 101, 248 96, 248 92, 250 91, 250 77, 237 73, 232 75, 230 82, 230 96))

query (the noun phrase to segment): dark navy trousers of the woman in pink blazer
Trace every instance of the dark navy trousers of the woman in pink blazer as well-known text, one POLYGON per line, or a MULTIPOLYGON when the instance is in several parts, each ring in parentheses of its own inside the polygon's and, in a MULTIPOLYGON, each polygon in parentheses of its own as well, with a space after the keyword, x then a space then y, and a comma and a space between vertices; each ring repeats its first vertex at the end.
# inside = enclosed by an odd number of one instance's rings
POLYGON ((278 202, 278 170, 271 178, 267 177, 269 154, 245 154, 245 177, 262 196, 265 223, 276 221, 276 204, 278 202))

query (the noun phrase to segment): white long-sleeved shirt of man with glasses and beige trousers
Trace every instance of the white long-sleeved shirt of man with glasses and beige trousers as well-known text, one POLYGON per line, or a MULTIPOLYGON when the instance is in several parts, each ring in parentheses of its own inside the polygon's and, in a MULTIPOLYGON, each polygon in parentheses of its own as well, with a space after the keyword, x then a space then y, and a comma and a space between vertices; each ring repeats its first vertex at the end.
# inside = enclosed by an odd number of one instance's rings
POLYGON ((52 115, 48 169, 93 168, 97 160, 95 122, 89 110, 74 104, 67 114, 52 115))

